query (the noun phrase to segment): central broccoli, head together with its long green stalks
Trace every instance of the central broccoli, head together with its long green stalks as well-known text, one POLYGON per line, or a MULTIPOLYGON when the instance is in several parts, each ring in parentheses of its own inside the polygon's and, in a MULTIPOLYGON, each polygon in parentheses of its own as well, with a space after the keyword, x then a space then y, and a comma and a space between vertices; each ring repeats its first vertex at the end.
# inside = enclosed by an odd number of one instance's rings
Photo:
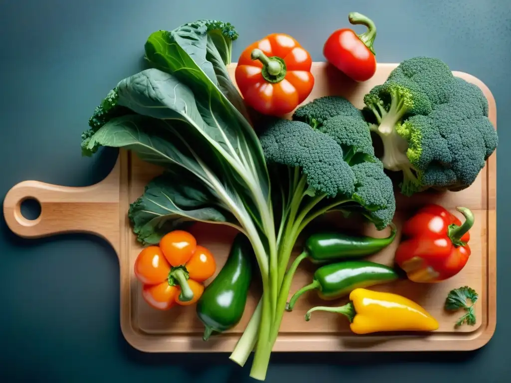
POLYGON ((391 223, 396 209, 392 183, 374 156, 369 126, 361 111, 346 99, 319 98, 299 107, 292 121, 276 118, 260 136, 260 142, 272 172, 271 184, 280 185, 272 197, 282 207, 280 221, 275 217, 280 291, 269 339, 261 338, 258 322, 264 318, 258 310, 264 302, 260 302, 230 356, 243 366, 257 341, 252 366, 256 370, 267 362, 281 326, 293 275, 301 260, 297 257, 288 268, 300 233, 313 220, 333 210, 361 212, 382 230, 391 223), (261 346, 262 341, 268 342, 266 349, 261 346))

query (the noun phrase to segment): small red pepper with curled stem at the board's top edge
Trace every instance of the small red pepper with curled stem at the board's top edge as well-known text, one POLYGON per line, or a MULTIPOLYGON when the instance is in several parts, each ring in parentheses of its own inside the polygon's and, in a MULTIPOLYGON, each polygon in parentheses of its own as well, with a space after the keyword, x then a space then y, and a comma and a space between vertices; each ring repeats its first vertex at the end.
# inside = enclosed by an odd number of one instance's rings
POLYGON ((351 12, 348 19, 353 25, 366 26, 367 32, 357 35, 349 28, 335 31, 324 43, 323 55, 346 76, 358 82, 366 81, 376 72, 373 49, 376 26, 368 17, 358 12, 351 12))

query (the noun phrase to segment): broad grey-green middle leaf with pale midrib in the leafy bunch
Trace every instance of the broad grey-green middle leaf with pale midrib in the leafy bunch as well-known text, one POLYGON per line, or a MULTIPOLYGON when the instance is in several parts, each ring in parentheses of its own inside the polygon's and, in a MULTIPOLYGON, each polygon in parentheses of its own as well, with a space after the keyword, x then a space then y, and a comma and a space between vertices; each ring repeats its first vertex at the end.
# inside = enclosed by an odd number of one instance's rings
MULTIPOLYGON (((243 201, 258 226, 263 226, 251 190, 265 193, 261 199, 267 200, 268 190, 265 187, 268 184, 264 181, 264 170, 258 171, 261 168, 257 157, 254 158, 254 149, 251 149, 240 125, 229 114, 232 107, 226 108, 218 99, 196 97, 175 76, 156 68, 122 80, 117 89, 118 105, 169 122, 167 125, 157 123, 156 128, 176 131, 173 127, 176 121, 188 124, 183 127, 182 134, 193 140, 194 148, 202 145, 202 148, 213 149, 207 156, 208 164, 213 162, 215 169, 219 170, 219 179, 236 185, 237 198, 243 201)), ((201 151, 200 155, 203 154, 201 151)))

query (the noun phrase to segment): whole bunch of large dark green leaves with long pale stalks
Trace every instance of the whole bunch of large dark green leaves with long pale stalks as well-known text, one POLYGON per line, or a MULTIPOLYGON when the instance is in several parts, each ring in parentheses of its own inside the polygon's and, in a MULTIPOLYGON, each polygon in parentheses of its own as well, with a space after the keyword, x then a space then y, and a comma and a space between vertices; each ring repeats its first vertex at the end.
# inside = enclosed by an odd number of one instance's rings
MULTIPOLYGON (((260 342, 252 376, 264 377, 280 290, 277 244, 264 154, 225 67, 232 32, 221 22, 199 20, 151 34, 145 48, 152 68, 112 89, 82 136, 82 150, 90 155, 101 146, 124 148, 167 170, 130 206, 139 241, 156 243, 169 228, 190 220, 223 222, 246 234, 263 282, 262 304, 254 314, 260 342), (174 185, 176 179, 186 185, 174 185)), ((254 343, 255 338, 248 353, 254 343)))

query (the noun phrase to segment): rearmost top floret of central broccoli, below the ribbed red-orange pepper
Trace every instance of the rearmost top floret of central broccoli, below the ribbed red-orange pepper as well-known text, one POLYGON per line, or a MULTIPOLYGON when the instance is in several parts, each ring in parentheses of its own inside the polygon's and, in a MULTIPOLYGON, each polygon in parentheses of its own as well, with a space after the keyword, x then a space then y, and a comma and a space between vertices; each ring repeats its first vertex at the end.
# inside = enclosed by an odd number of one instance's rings
POLYGON ((318 128, 327 119, 338 115, 363 118, 362 112, 350 101, 340 96, 329 95, 299 106, 293 113, 293 119, 318 128))

